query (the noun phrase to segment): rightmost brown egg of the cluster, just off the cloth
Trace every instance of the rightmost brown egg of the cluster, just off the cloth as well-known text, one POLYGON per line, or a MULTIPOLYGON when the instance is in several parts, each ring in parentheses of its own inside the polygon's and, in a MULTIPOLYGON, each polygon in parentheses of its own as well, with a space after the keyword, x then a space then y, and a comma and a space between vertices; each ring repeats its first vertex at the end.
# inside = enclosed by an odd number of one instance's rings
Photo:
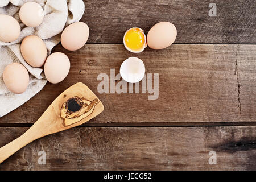
POLYGON ((61 44, 69 51, 76 51, 84 46, 89 37, 89 27, 84 22, 70 24, 61 34, 61 44))

